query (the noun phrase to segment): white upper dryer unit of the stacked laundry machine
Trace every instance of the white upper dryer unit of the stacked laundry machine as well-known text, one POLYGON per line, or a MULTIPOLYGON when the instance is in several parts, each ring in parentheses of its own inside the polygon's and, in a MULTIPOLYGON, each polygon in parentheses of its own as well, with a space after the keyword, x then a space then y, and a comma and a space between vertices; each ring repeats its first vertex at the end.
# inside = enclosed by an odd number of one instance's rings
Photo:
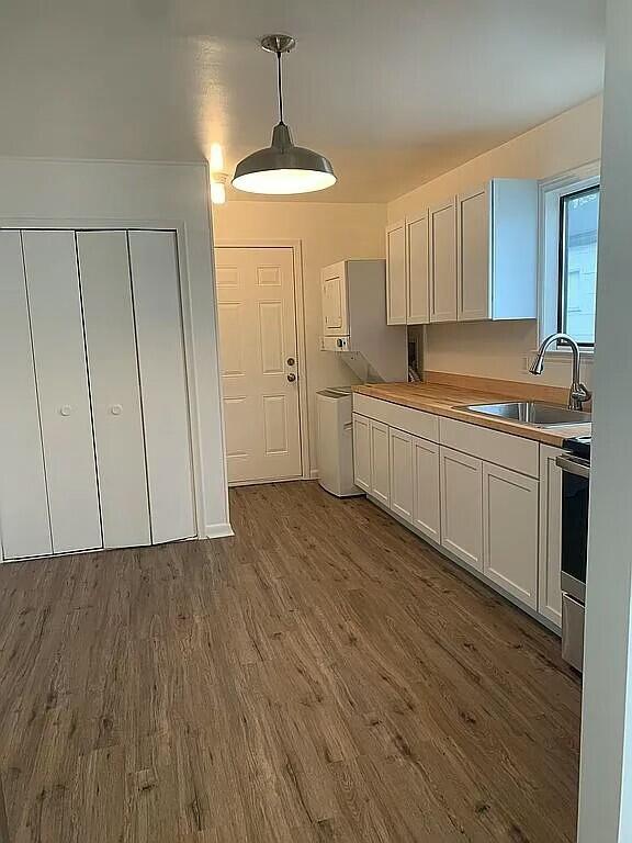
POLYGON ((361 381, 406 381, 406 326, 386 324, 386 261, 332 263, 321 270, 320 289, 320 349, 342 355, 361 381))

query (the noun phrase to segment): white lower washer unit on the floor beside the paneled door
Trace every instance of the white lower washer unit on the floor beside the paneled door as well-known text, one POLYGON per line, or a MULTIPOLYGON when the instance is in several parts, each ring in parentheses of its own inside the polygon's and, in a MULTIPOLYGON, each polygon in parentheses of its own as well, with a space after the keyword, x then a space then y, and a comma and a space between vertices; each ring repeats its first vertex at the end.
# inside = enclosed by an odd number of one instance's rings
POLYGON ((316 393, 318 409, 318 482, 337 497, 362 495, 353 483, 353 398, 351 390, 316 393))

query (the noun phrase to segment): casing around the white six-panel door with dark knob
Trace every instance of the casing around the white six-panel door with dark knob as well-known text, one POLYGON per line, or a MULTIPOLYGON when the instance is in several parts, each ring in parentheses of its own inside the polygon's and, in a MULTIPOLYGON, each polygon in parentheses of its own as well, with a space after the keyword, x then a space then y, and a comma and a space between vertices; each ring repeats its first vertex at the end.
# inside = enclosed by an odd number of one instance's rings
MULTIPOLYGON (((292 249, 292 270, 294 273, 294 319, 296 325, 296 350, 298 363, 298 424, 301 429, 301 468, 302 473, 295 477, 282 480, 242 481, 233 483, 234 486, 249 486, 263 483, 285 483, 292 480, 313 480, 309 460, 309 413, 307 392, 307 360, 305 340, 305 289, 303 283, 303 243, 292 239, 218 239, 213 244, 213 261, 215 249, 292 249)), ((215 278, 217 267, 215 265, 215 278)), ((215 282, 216 283, 216 282, 215 282)), ((222 360, 222 341, 218 339, 219 360, 222 360)), ((219 376, 222 380, 222 376, 219 376)), ((226 473, 226 476, 228 474, 226 473)))

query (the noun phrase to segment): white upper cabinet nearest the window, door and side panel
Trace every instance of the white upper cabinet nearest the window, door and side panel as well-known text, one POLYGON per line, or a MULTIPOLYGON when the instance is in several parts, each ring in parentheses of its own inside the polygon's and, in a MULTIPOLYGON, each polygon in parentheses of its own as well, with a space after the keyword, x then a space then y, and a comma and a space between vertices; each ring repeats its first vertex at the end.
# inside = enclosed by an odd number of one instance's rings
POLYGON ((538 183, 494 179, 461 193, 458 221, 460 322, 538 315, 538 183))

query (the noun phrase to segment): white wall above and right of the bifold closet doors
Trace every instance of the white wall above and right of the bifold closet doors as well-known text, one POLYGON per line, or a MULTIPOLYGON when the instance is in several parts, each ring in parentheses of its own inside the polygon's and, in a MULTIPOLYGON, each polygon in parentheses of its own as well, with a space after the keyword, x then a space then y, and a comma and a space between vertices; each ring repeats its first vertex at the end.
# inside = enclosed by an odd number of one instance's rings
POLYGON ((228 513, 207 192, 204 165, 0 158, 2 224, 183 226, 179 249, 190 290, 190 308, 183 302, 185 316, 192 318, 193 341, 188 350, 196 383, 192 402, 198 418, 192 423, 200 446, 196 449, 194 442, 201 480, 199 516, 202 530, 217 533, 226 531, 228 513))

